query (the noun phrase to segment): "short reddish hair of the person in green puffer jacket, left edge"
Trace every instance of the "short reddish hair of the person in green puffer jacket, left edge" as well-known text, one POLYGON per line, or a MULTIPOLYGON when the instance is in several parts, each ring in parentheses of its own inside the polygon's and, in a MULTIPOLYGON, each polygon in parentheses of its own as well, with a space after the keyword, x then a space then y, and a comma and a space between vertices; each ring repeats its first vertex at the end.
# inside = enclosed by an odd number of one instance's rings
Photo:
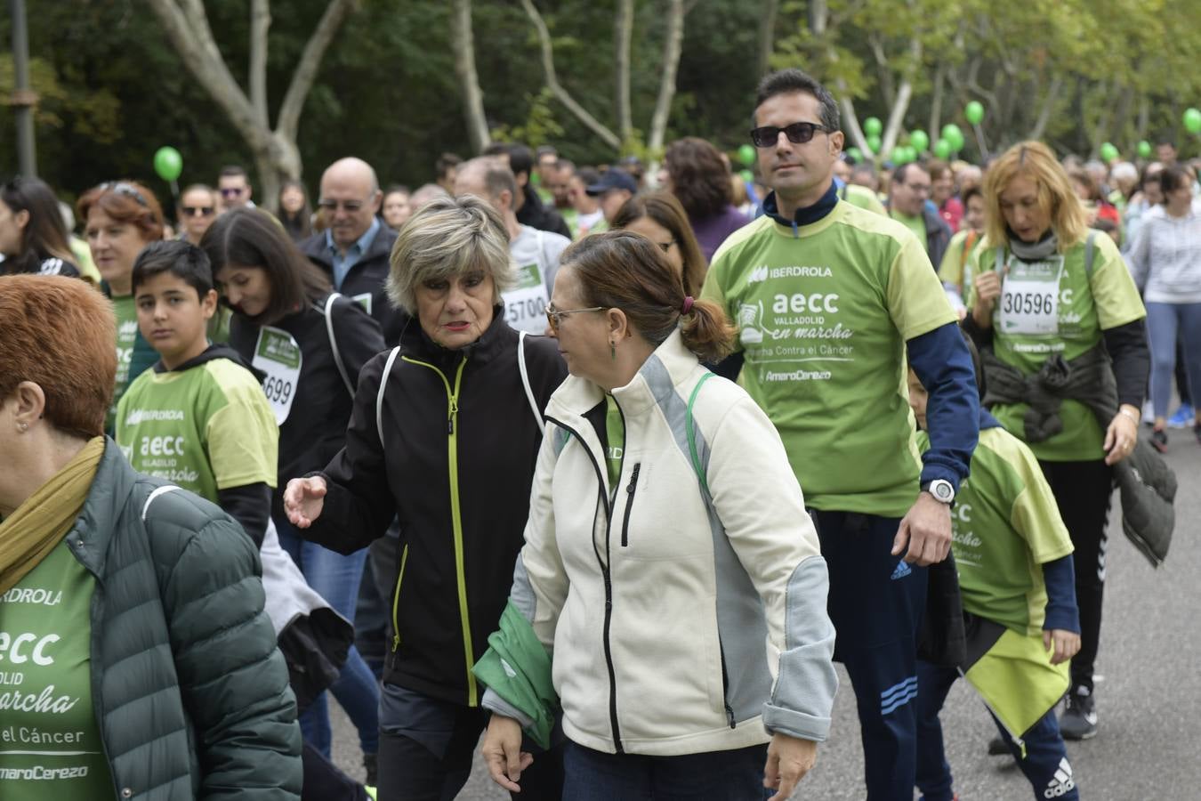
POLYGON ((104 295, 78 279, 5 276, 0 319, 0 400, 31 381, 59 431, 103 434, 116 383, 116 321, 104 295))

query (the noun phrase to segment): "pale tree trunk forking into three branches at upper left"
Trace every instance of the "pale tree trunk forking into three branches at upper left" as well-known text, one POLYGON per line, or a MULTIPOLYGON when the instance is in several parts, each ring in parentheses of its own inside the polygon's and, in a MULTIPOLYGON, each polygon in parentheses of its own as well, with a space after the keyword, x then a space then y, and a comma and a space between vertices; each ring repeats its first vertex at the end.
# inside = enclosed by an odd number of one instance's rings
POLYGON ((234 80, 217 49, 201 0, 148 0, 167 38, 187 70, 226 113, 253 154, 259 197, 268 208, 279 198, 285 179, 301 173, 297 130, 305 98, 312 89, 321 60, 337 29, 354 8, 354 0, 330 0, 292 72, 283 102, 271 128, 267 97, 268 30, 270 0, 251 0, 249 92, 234 80))

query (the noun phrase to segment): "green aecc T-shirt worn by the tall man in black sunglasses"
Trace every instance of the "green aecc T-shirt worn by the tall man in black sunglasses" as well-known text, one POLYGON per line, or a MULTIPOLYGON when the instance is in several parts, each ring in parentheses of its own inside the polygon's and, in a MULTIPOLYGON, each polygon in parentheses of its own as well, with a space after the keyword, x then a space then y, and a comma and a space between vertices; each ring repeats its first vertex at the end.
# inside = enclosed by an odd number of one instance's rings
POLYGON ((920 472, 906 342, 956 319, 924 245, 849 203, 795 235, 763 216, 717 250, 701 297, 740 327, 741 383, 806 502, 903 516, 920 472))

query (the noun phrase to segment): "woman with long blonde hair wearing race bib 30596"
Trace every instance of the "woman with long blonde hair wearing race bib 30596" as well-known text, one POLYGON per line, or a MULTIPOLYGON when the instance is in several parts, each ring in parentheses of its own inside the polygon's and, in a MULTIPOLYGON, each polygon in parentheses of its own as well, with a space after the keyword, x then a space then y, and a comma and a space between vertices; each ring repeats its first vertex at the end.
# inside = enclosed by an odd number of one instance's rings
POLYGON ((1082 646, 1059 723, 1064 737, 1082 740, 1097 734, 1105 527, 1113 465, 1139 438, 1146 311, 1117 245, 1089 231, 1071 179, 1045 144, 1023 142, 997 159, 984 198, 964 327, 990 351, 985 402, 1034 452, 1075 546, 1082 646))

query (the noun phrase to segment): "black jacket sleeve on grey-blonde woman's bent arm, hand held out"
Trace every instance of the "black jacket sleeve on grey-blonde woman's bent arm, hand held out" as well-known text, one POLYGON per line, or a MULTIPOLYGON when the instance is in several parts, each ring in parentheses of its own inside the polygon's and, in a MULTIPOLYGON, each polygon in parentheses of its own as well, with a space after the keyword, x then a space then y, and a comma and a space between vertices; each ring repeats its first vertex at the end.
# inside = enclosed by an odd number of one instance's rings
MULTIPOLYGON (((321 515, 300 536, 340 554, 371 544, 396 515, 388 467, 376 429, 376 397, 390 351, 376 354, 359 373, 346 444, 319 474, 325 479, 321 515)), ((393 365, 395 370, 395 365, 393 365)), ((388 416, 384 413, 384 428, 388 416)), ((387 432, 384 434, 387 437, 387 432)))

